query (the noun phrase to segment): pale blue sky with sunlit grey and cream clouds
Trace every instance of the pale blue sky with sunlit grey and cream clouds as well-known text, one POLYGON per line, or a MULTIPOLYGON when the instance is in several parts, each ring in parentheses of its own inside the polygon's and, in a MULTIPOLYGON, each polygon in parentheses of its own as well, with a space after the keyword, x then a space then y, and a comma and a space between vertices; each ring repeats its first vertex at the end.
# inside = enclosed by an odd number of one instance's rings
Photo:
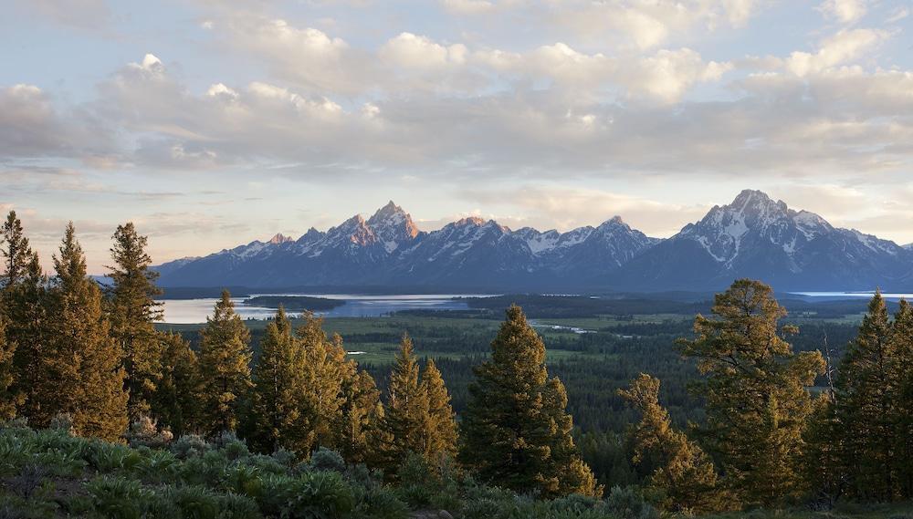
POLYGON ((393 200, 666 237, 743 189, 913 242, 913 2, 0 0, 0 210, 89 271, 393 200))

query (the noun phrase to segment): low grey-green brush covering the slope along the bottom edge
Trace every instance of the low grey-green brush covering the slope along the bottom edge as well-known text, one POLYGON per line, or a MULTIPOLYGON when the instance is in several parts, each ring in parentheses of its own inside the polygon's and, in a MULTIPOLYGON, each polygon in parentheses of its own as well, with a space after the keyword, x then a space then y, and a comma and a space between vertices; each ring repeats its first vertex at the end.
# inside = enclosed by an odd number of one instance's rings
MULTIPOLYGON (((441 460, 408 457, 395 485, 364 465, 320 450, 309 462, 293 453, 251 454, 223 435, 186 436, 170 449, 135 448, 70 435, 0 426, 0 518, 32 519, 658 519, 633 487, 606 498, 571 495, 542 500, 477 483, 441 460), (442 513, 441 511, 446 511, 442 513)), ((754 511, 720 517, 913 519, 901 506, 840 514, 754 511)))

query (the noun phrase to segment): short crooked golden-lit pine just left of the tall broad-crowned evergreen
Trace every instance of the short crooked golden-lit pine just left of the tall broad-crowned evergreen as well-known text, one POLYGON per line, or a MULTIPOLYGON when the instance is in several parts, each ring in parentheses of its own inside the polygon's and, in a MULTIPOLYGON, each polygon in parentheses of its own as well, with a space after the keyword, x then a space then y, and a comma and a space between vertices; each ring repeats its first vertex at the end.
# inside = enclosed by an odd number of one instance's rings
POLYGON ((663 508, 691 514, 725 508, 713 462, 685 433, 673 429, 668 411, 659 405, 659 379, 642 373, 630 389, 619 389, 618 394, 641 414, 631 432, 632 461, 641 464, 649 459, 649 485, 663 508))

